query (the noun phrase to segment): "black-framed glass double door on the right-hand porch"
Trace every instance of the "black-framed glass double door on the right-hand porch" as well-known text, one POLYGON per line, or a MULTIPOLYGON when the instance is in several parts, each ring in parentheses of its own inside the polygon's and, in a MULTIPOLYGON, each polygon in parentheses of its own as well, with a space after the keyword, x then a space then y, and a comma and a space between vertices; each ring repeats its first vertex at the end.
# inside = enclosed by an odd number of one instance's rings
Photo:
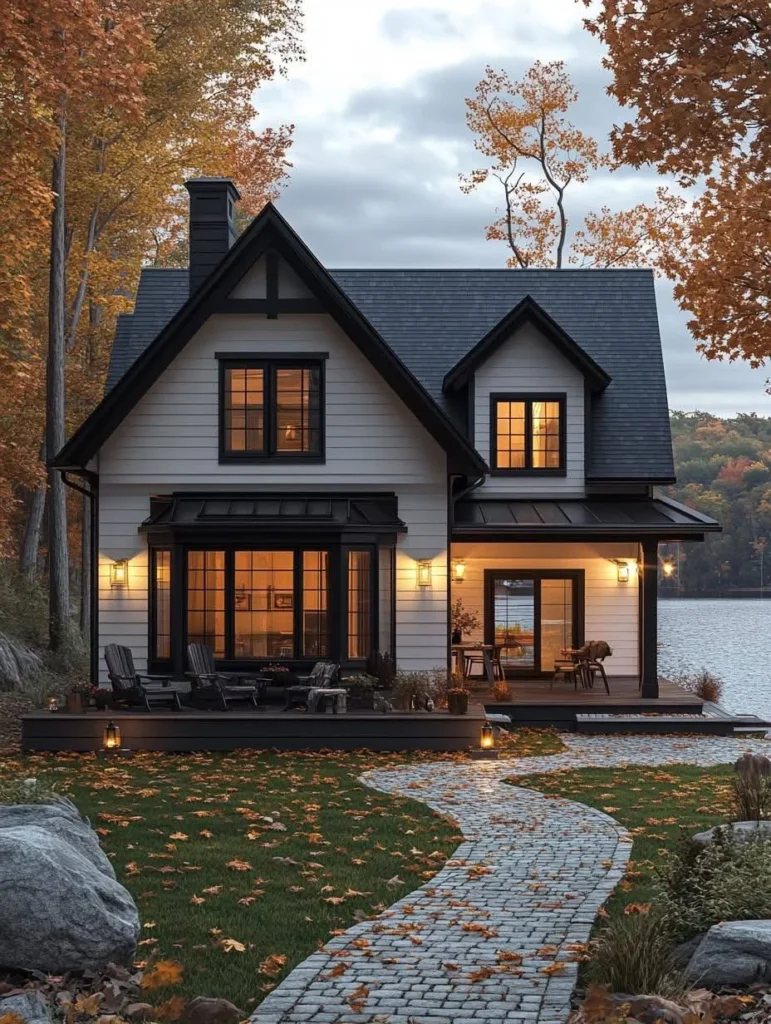
POLYGON ((551 675, 560 650, 583 643, 583 569, 485 569, 484 590, 484 640, 507 676, 551 675))

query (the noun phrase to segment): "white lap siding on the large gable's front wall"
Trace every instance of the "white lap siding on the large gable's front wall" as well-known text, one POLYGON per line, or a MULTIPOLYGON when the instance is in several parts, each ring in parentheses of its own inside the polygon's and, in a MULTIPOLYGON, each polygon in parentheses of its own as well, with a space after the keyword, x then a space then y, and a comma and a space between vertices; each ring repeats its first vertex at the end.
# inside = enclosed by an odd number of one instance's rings
POLYGON ((151 495, 174 490, 392 492, 408 525, 396 552, 396 651, 400 667, 446 662, 446 458, 416 417, 329 316, 215 316, 163 372, 101 449, 99 663, 125 643, 147 664, 147 551, 137 527, 151 495), (220 465, 215 352, 327 353, 326 462, 220 465), (110 566, 129 559, 129 585, 112 589, 110 566), (418 590, 417 562, 432 561, 418 590))

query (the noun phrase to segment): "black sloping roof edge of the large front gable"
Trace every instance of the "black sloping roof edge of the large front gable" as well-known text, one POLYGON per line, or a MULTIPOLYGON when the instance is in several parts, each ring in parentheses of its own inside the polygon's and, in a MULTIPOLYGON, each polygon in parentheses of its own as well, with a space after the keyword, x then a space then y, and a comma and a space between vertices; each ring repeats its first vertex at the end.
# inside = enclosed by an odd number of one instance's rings
MULTIPOLYGON (((126 367, 115 386, 109 390, 61 451, 51 460, 59 468, 85 466, 110 437, 116 427, 133 409, 139 398, 160 377, 195 333, 206 323, 244 273, 265 252, 279 253, 323 302, 325 309, 370 360, 395 393, 402 399, 426 430, 451 457, 454 468, 464 472, 480 473, 486 469, 484 460, 471 442, 461 433, 446 413, 431 400, 420 381, 413 376, 398 355, 380 337, 338 284, 313 256, 305 243, 290 227, 275 207, 268 203, 252 221, 238 242, 230 248, 216 269, 181 305, 171 313, 171 318, 147 338, 144 347, 126 367)), ((187 279, 187 271, 182 271, 187 279)), ((168 284, 169 271, 165 271, 168 284)), ((176 279, 173 279, 176 280, 176 279)), ((161 307, 161 315, 169 312, 170 296, 163 290, 164 281, 154 276, 153 286, 145 290, 154 293, 154 302, 137 304, 131 323, 121 323, 116 331, 116 346, 126 347, 134 338, 134 328, 140 337, 146 327, 143 311, 149 305, 161 307), (161 286, 162 295, 159 295, 161 286), (137 319, 134 319, 134 316, 137 319)), ((181 298, 181 294, 178 293, 181 298)), ((155 315, 149 317, 155 319, 155 315)))

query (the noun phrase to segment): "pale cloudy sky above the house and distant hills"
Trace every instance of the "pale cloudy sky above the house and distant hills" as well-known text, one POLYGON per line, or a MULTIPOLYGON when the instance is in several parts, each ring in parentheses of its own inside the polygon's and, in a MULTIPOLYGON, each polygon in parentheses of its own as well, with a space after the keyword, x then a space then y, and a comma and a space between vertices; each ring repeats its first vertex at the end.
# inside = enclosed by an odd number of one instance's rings
MULTIPOLYGON (((458 185, 478 166, 464 98, 488 62, 517 78, 536 59, 563 59, 581 93, 574 121, 606 137, 623 116, 583 11, 575 0, 305 0, 307 59, 257 103, 264 124, 295 125, 280 207, 322 262, 504 266, 505 247, 484 238, 498 193, 458 185)), ((576 220, 605 203, 624 209, 659 182, 603 175, 571 209, 576 220)), ((672 408, 771 415, 771 374, 698 356, 669 285, 657 287, 672 408)))

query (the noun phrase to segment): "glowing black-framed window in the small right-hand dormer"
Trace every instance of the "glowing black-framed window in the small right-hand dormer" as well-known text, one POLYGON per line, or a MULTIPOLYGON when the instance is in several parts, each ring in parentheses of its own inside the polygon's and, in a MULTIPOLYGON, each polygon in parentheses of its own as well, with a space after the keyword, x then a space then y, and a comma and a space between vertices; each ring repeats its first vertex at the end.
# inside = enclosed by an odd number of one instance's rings
POLYGON ((565 474, 565 395, 490 395, 494 473, 565 474))

